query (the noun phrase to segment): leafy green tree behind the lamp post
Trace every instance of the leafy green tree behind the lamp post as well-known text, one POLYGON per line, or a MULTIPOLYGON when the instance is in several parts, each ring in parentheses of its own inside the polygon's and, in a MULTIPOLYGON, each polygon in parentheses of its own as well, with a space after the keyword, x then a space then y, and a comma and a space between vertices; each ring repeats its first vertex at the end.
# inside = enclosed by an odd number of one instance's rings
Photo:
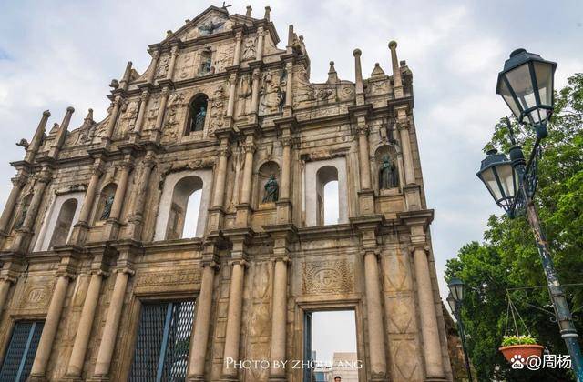
MULTIPOLYGON (((530 153, 534 132, 527 126, 513 127, 518 144, 530 153)), ((583 286, 568 286, 583 279, 583 74, 570 77, 556 95, 548 131, 542 144, 535 203, 559 279, 567 285, 569 307, 576 317, 583 318, 583 286)), ((493 146, 505 152, 510 146, 502 120, 485 150, 493 146)), ((513 370, 497 351, 505 334, 509 296, 540 345, 551 354, 568 354, 557 324, 550 320, 552 313, 544 311, 552 312, 553 307, 547 288, 537 287, 545 286, 547 280, 524 216, 490 216, 484 242, 463 246, 458 256, 447 262, 445 275, 458 276, 467 286, 462 315, 471 336, 468 347, 478 380, 574 380, 569 371, 561 369, 513 370), (506 292, 513 288, 521 289, 506 292)), ((576 321, 579 334, 583 334, 581 321, 576 321)))

